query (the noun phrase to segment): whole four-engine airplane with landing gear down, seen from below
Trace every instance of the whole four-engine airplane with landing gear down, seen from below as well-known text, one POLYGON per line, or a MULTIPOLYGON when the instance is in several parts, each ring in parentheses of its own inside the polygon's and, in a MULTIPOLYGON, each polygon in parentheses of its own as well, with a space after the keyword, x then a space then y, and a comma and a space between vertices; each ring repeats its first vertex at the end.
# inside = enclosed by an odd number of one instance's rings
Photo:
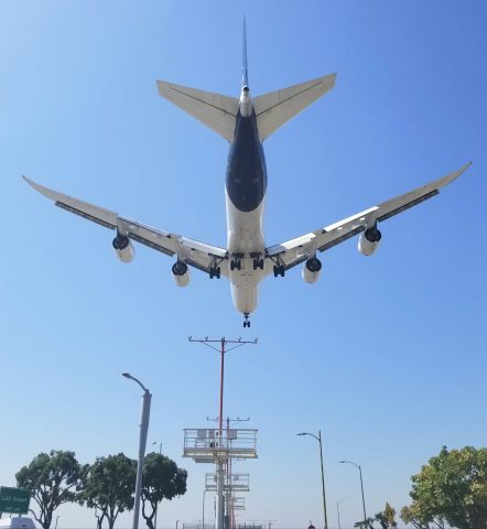
POLYGON ((158 80, 160 96, 178 106, 230 143, 226 173, 227 248, 219 248, 178 234, 163 231, 118 213, 79 201, 24 180, 56 206, 116 231, 113 249, 121 262, 134 257, 132 241, 175 257, 172 273, 178 287, 190 283, 190 267, 210 279, 228 278, 235 307, 244 314, 244 327, 250 327, 250 314, 257 307, 259 283, 267 276, 284 277, 303 263, 302 277, 315 283, 322 262, 316 257, 359 235, 358 250, 371 256, 381 240, 378 224, 437 195, 457 179, 472 162, 457 171, 369 207, 301 237, 266 246, 263 213, 268 184, 262 143, 286 121, 328 93, 336 74, 317 77, 289 88, 252 97, 247 65, 247 36, 244 21, 242 83, 240 97, 203 91, 158 80))

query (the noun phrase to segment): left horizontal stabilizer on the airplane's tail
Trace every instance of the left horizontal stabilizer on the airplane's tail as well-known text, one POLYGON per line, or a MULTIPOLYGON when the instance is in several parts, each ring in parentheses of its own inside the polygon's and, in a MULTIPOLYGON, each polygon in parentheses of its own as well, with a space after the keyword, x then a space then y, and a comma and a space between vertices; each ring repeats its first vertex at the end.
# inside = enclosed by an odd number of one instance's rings
POLYGON ((238 99, 158 80, 159 95, 191 114, 226 140, 232 141, 238 99))

